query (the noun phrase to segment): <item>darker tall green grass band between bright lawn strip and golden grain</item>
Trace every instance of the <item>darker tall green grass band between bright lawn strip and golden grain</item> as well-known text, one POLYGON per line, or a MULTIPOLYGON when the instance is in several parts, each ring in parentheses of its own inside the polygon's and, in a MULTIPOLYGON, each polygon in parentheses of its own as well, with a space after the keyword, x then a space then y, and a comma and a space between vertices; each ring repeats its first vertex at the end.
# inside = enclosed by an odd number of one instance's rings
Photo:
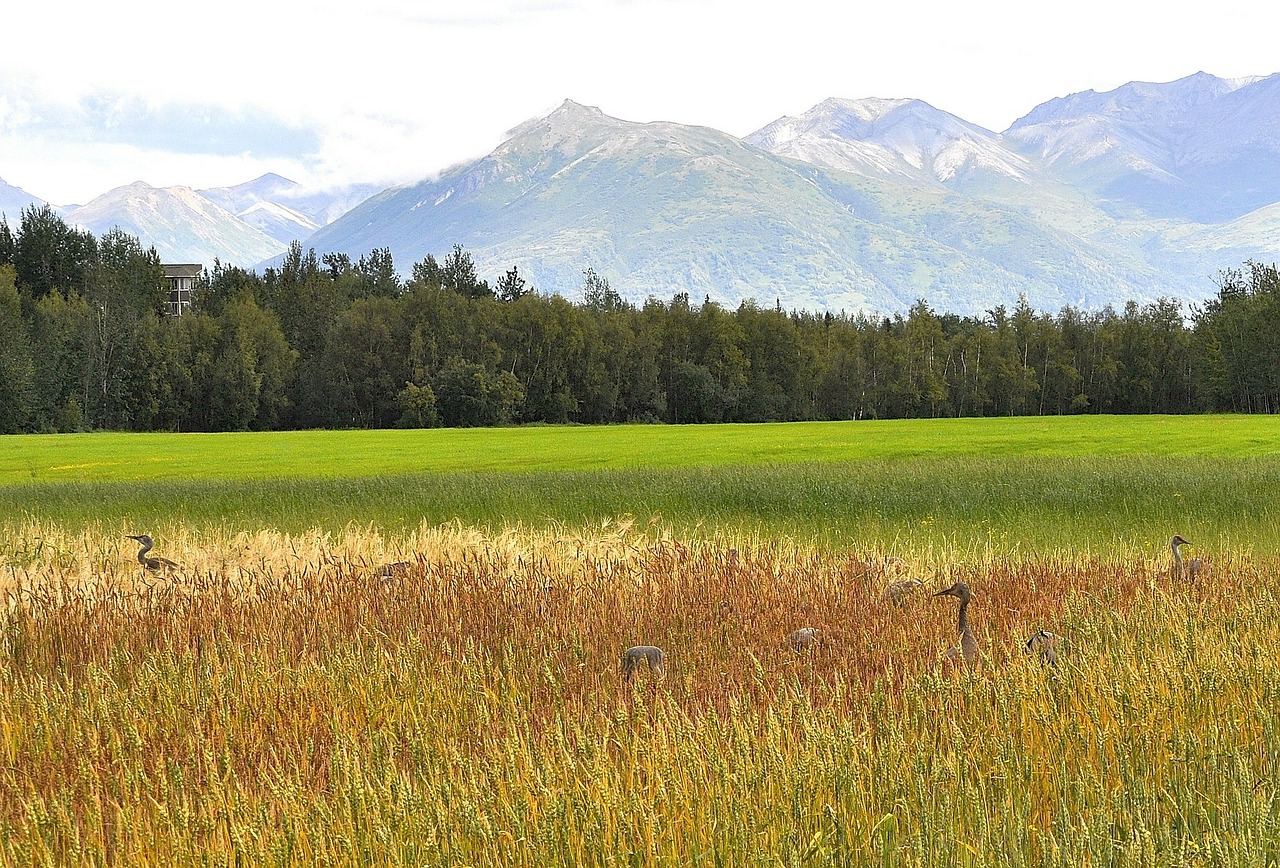
MULTIPOLYGON (((422 521, 499 530, 586 527, 618 515, 686 536, 726 529, 822 544, 1019 552, 1211 547, 1280 554, 1280 462, 1271 458, 968 457, 845 463, 454 472, 335 480, 37 483, 0 488, 0 529, 23 521, 104 533, 273 527, 387 531, 422 521)), ((12 544, 12 543, 10 543, 12 544)), ((0 538, 0 547, 4 539, 0 538)))

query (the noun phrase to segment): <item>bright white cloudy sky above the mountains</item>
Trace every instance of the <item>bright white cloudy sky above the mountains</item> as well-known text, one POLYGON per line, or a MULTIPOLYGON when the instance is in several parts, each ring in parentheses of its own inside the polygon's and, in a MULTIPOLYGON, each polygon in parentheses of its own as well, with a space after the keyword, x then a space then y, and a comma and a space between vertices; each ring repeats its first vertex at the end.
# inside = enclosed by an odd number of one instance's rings
POLYGON ((746 136, 832 96, 918 97, 998 132, 1091 88, 1280 72, 1280 4, 1262 0, 9 6, 0 178, 56 205, 266 172, 420 181, 564 99, 746 136))

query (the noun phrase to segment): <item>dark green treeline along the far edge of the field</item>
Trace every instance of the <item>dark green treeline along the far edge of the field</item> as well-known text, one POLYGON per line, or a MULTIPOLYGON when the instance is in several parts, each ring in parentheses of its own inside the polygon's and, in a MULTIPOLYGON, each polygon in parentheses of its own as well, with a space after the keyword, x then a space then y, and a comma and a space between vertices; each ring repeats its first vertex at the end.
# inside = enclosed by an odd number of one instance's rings
POLYGON ((582 300, 461 247, 412 266, 294 245, 215 264, 166 316, 154 250, 28 210, 0 223, 0 430, 241 430, 1280 410, 1280 274, 1248 262, 1184 315, 1025 302, 847 316, 687 294, 582 300))

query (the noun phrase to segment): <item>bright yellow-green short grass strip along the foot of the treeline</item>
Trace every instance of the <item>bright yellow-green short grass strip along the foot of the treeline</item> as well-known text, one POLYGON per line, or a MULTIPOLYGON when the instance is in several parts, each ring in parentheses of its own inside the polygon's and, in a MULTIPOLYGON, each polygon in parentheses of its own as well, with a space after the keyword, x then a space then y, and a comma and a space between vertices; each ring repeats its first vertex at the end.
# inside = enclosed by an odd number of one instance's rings
POLYGON ((15 435, 0 438, 0 486, 989 456, 1277 458, 1280 426, 1274 419, 1262 416, 1068 416, 768 425, 15 435))

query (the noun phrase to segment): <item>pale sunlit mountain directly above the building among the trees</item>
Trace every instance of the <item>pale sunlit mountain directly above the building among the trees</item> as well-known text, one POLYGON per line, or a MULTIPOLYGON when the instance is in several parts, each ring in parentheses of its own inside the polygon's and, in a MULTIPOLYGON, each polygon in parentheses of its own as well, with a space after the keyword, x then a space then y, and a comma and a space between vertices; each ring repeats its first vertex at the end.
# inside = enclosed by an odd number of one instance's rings
POLYGON ((99 196, 68 220, 96 236, 118 227, 143 246, 155 246, 166 262, 211 266, 216 257, 250 266, 287 247, 189 187, 151 187, 141 181, 99 196))

